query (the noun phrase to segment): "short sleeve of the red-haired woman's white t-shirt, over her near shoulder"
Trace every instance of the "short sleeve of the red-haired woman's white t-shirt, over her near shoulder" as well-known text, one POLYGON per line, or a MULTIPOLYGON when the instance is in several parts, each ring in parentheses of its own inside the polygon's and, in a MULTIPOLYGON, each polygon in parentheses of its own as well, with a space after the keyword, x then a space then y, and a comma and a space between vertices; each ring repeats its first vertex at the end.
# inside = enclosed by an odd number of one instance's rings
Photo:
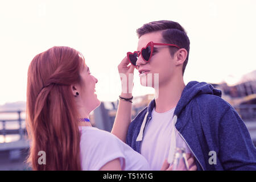
POLYGON ((116 158, 125 159, 122 145, 108 131, 82 127, 80 155, 83 170, 99 170, 116 158))

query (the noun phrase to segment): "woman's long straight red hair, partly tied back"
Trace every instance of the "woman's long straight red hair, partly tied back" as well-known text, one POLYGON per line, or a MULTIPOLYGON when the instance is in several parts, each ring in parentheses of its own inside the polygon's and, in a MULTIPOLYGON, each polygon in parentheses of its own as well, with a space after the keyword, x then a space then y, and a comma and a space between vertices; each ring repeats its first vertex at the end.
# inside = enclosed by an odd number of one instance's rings
POLYGON ((81 53, 52 47, 31 61, 27 77, 27 163, 34 170, 81 170, 78 111, 71 84, 80 82, 81 53), (39 151, 46 164, 39 164, 39 151))

